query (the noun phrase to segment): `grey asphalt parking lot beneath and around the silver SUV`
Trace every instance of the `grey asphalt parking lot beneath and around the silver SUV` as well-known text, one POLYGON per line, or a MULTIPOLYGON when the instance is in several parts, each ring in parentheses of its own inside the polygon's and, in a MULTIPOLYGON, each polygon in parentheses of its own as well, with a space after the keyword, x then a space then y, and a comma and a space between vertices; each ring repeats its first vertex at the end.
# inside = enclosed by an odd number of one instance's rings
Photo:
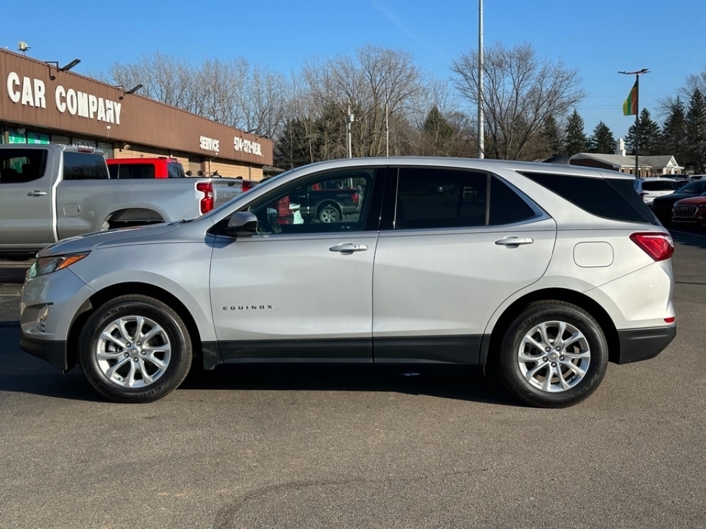
POLYGON ((678 334, 578 406, 481 370, 238 367, 97 398, 18 347, 0 264, 0 528, 706 528, 706 236, 674 232, 678 334))

